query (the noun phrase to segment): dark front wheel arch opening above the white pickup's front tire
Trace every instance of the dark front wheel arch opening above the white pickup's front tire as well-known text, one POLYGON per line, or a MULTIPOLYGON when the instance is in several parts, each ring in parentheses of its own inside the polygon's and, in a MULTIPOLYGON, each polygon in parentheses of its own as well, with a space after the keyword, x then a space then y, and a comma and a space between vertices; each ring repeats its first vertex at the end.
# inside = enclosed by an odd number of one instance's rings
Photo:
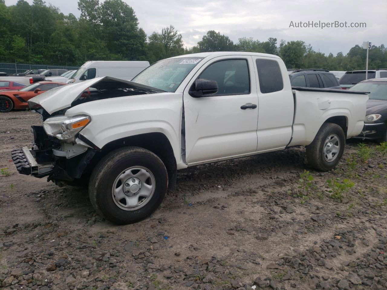
POLYGON ((113 140, 101 148, 90 162, 89 169, 92 170, 95 164, 109 152, 127 146, 137 146, 147 149, 156 154, 163 161, 168 172, 168 189, 175 190, 177 165, 173 148, 167 136, 160 132, 132 135, 113 140))

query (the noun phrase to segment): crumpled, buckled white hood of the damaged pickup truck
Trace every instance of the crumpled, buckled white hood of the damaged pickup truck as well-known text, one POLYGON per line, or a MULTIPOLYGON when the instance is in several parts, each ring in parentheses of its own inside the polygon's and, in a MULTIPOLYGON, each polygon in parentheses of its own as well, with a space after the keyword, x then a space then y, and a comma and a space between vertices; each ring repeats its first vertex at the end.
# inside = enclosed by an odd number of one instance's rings
POLYGON ((71 106, 71 103, 77 100, 87 88, 101 89, 137 89, 144 90, 146 92, 165 92, 148 85, 137 84, 129 80, 123 80, 121 78, 113 77, 99 77, 92 80, 86 80, 78 84, 69 84, 57 87, 36 97, 33 97, 28 101, 30 108, 36 105, 43 107, 48 114, 55 113, 56 111, 65 109, 71 106))

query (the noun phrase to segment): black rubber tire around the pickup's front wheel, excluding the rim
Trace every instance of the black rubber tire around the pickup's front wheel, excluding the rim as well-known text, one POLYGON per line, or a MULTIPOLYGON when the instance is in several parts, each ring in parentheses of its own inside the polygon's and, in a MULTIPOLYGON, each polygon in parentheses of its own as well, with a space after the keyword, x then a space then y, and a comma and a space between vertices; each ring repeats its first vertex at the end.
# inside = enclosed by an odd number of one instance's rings
POLYGON ((168 174, 161 159, 140 147, 124 147, 104 156, 89 181, 89 198, 96 212, 112 223, 126 225, 151 215, 161 204, 168 188, 168 174), (132 166, 145 167, 154 176, 155 188, 147 203, 136 210, 123 210, 112 196, 116 178, 132 166))

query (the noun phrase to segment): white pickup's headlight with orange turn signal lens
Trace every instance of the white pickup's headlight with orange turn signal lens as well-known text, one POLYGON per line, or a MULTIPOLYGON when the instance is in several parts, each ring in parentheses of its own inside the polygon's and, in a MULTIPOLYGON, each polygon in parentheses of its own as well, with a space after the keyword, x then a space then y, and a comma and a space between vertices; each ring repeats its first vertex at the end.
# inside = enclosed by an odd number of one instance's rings
POLYGON ((78 115, 74 117, 55 116, 43 122, 43 128, 47 135, 57 137, 60 140, 68 140, 82 130, 90 122, 90 117, 78 115))

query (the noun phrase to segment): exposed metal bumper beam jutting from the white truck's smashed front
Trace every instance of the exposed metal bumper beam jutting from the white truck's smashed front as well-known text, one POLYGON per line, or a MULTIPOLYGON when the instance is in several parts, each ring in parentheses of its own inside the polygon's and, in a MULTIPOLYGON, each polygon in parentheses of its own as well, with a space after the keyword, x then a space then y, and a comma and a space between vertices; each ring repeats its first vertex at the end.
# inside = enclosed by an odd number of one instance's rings
POLYGON ((12 150, 11 156, 17 171, 21 174, 40 178, 50 175, 53 171, 52 163, 39 164, 34 157, 34 151, 27 147, 12 150))

